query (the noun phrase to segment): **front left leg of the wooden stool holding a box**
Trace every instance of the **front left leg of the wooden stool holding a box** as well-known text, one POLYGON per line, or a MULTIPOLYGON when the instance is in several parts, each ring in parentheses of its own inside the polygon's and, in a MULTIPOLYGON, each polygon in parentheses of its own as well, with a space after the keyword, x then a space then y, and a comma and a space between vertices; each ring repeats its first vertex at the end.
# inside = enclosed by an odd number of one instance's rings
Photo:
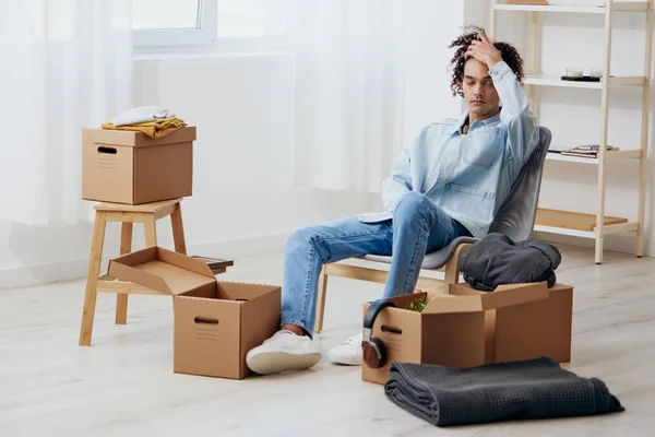
POLYGON ((93 227, 93 240, 91 243, 91 257, 88 259, 88 271, 86 273, 86 294, 84 295, 84 310, 82 311, 82 327, 80 329, 80 345, 91 345, 93 332, 93 319, 95 317, 95 303, 97 296, 98 276, 100 274, 100 262, 103 260, 103 245, 105 243, 105 228, 107 225, 107 213, 96 212, 93 227))

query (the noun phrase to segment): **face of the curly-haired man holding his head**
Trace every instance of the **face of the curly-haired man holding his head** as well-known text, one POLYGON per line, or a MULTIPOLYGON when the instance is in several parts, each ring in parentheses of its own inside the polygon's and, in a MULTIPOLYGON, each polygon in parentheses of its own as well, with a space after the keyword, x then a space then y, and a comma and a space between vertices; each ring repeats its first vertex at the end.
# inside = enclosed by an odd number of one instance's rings
POLYGON ((498 114, 500 97, 485 63, 475 58, 466 61, 462 91, 468 110, 475 118, 484 120, 498 114))

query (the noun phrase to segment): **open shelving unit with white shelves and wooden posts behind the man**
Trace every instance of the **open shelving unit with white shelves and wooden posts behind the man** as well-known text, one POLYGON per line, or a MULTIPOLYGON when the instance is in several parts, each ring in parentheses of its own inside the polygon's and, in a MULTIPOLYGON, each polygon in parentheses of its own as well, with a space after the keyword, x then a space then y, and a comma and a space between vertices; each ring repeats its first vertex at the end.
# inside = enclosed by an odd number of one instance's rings
MULTIPOLYGON (((572 235, 577 237, 594 238, 596 241, 596 263, 603 262, 603 241, 608 234, 628 233, 636 234, 635 255, 643 256, 644 250, 644 217, 646 200, 647 178, 647 144, 648 144, 648 117, 651 94, 651 57, 653 51, 653 5, 655 0, 643 1, 612 1, 605 0, 603 7, 575 7, 575 5, 531 5, 531 4, 505 4, 504 0, 491 0, 491 23, 488 34, 496 36, 496 19, 498 13, 529 13, 531 14, 531 42, 532 59, 529 70, 524 83, 531 99, 531 107, 538 117, 537 87, 560 86, 569 88, 598 90, 600 92, 600 127, 598 141, 590 142, 600 145, 597 158, 577 157, 548 153, 547 160, 551 162, 565 162, 571 164, 596 165, 598 167, 597 180, 597 208, 596 214, 582 214, 571 211, 553 211, 539 209, 537 213, 536 231, 572 235), (643 75, 612 76, 610 72, 611 61, 611 35, 612 17, 617 12, 642 13, 645 20, 645 54, 643 75), (600 82, 571 82, 562 81, 560 75, 544 74, 539 68, 539 20, 541 13, 569 13, 569 14, 600 14, 605 17, 605 37, 603 40, 603 79, 600 82), (610 86, 639 86, 642 88, 642 126, 641 141, 639 147, 628 147, 621 151, 606 151, 607 128, 609 117, 609 87, 610 86), (605 176, 606 163, 614 160, 636 160, 639 167, 639 201, 636 205, 638 221, 629 222, 627 218, 609 217, 605 215, 605 176)), ((557 137, 553 132, 553 141, 565 144, 567 139, 557 137)), ((570 147, 568 147, 570 149, 570 147)), ((623 146, 621 147, 623 149, 623 146)))

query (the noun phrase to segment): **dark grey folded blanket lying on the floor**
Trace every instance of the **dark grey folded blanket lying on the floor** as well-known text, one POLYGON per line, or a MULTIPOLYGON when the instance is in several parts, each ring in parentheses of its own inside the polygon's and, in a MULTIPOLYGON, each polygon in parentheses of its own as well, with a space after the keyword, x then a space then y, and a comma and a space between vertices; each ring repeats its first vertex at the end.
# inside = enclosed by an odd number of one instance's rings
POLYGON ((465 369, 394 362, 390 371, 386 397, 437 426, 624 411, 605 382, 549 357, 465 369))

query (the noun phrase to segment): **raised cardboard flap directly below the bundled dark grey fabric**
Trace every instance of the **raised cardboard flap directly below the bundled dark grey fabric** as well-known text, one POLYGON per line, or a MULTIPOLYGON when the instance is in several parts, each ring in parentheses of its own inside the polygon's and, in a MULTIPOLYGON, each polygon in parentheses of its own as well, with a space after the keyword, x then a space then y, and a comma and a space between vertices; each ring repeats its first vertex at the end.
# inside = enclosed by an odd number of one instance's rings
POLYGON ((493 292, 481 292, 468 284, 451 284, 449 292, 450 295, 458 297, 476 297, 480 300, 480 308, 487 310, 547 299, 548 284, 546 282, 505 284, 497 286, 493 292))

